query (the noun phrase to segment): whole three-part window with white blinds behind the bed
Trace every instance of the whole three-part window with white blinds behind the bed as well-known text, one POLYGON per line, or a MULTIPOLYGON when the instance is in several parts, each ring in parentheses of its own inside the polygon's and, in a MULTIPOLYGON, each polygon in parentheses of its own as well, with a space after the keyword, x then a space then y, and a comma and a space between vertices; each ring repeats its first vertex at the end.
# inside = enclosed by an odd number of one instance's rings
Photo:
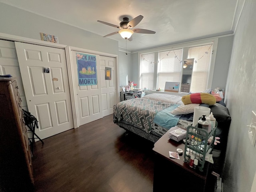
MULTIPOLYGON (((190 92, 202 92, 211 87, 214 64, 213 46, 217 41, 193 42, 170 47, 158 48, 154 52, 140 53, 140 87, 149 90, 164 90, 165 82, 182 82, 184 59, 194 58, 190 92)), ((214 54, 214 57, 216 54, 214 54)))

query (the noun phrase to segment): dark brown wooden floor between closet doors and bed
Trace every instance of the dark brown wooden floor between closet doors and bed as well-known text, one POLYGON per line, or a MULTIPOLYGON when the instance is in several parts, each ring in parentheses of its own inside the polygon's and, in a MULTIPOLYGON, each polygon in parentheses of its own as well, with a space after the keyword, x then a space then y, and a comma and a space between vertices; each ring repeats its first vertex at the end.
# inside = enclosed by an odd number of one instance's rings
POLYGON ((113 116, 34 144, 36 192, 152 192, 154 144, 113 116))

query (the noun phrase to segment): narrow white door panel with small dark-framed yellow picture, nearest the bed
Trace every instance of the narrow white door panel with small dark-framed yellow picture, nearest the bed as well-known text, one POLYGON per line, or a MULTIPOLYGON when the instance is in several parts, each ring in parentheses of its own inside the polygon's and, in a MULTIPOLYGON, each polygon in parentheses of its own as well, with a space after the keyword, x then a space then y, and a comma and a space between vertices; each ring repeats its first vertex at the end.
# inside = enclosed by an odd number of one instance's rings
POLYGON ((113 107, 117 103, 116 58, 100 56, 101 95, 103 116, 113 114, 113 107), (110 78, 105 78, 106 67, 110 69, 110 78))

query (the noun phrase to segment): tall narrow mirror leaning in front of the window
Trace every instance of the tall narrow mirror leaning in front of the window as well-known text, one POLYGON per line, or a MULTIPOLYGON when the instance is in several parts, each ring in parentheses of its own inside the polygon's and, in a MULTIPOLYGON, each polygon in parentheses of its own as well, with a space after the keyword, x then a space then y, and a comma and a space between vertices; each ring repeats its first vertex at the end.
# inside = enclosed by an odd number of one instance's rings
POLYGON ((182 68, 182 82, 180 86, 180 92, 189 93, 192 80, 192 72, 194 66, 194 58, 185 59, 182 68))

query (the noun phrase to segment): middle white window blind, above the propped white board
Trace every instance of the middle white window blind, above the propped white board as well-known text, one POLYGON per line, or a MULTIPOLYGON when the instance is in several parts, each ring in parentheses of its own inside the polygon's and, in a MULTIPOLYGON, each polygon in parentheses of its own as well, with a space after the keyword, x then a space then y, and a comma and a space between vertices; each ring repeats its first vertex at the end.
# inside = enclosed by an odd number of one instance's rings
POLYGON ((160 52, 157 74, 157 88, 165 87, 165 82, 180 82, 182 49, 160 52))

